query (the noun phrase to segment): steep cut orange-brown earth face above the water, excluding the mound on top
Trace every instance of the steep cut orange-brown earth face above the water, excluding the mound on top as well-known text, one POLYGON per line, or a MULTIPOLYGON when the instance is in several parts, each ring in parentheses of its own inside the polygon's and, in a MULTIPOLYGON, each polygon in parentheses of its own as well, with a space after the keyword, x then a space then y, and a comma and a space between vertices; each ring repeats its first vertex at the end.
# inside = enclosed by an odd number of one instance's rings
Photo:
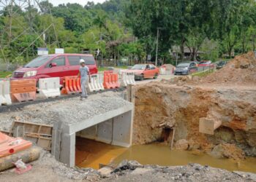
POLYGON ((173 127, 174 142, 187 140, 189 150, 211 154, 221 144, 230 150, 229 158, 256 157, 256 90, 167 81, 135 87, 133 143, 171 140, 173 127), (222 126, 214 135, 200 133, 200 118, 221 120, 222 126))

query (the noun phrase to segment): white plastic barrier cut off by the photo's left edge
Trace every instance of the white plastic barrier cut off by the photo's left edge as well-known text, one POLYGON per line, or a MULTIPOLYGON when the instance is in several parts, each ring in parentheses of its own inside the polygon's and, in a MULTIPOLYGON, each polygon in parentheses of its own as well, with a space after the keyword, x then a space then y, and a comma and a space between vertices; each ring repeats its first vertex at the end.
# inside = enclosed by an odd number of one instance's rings
POLYGON ((10 104, 12 104, 10 97, 10 81, 0 80, 0 106, 10 104))

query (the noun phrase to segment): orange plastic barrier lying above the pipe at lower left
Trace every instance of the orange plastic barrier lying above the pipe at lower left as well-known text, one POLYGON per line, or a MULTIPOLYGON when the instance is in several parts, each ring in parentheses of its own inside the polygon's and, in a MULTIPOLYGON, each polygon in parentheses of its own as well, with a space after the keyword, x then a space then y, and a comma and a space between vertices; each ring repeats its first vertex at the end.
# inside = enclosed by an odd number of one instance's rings
POLYGON ((25 141, 22 138, 12 138, 0 132, 0 158, 29 149, 31 146, 30 141, 25 141))

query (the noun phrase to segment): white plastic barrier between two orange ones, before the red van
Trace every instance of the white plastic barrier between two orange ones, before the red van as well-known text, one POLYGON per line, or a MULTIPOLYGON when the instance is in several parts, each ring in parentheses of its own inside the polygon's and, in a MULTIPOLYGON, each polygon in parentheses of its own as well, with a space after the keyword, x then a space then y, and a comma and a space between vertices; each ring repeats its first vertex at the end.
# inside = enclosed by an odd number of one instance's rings
POLYGON ((39 95, 44 98, 53 98, 61 95, 59 77, 39 79, 39 95))

